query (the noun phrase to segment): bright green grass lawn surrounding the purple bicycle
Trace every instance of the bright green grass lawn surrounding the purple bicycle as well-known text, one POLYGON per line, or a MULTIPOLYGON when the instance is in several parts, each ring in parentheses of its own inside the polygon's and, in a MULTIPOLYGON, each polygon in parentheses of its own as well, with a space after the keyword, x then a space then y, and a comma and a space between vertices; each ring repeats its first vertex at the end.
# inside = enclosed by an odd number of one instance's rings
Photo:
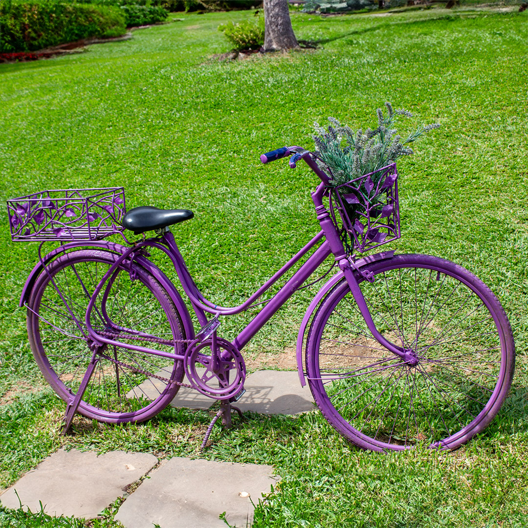
MULTIPOLYGON (((33 361, 18 308, 37 245, 10 241, 6 199, 124 185, 128 208, 192 209, 195 218, 173 230, 191 272, 216 303, 238 304, 318 231, 314 175, 285 161, 264 166, 259 155, 312 148, 312 124, 328 116, 375 127, 375 109, 390 101, 413 112, 412 125, 441 124, 399 163, 402 238, 393 249, 458 262, 501 299, 517 348, 510 397, 455 452, 380 455, 348 445, 318 412, 248 413, 243 426, 215 429, 201 456, 275 466, 280 485, 258 505, 254 526, 528 524, 526 12, 295 12, 298 39, 317 50, 229 63, 210 59, 229 50, 216 28, 252 12, 177 16, 88 53, 0 65, 0 487, 60 446, 199 456, 211 419, 167 409, 143 425, 111 427, 77 417, 74 433, 59 436, 64 405, 33 361)), ((316 289, 294 297, 244 355, 258 364, 293 354, 316 289)), ((98 525, 118 525, 110 506, 98 525)), ((22 517, 0 509, 7 526, 83 525, 22 517)))

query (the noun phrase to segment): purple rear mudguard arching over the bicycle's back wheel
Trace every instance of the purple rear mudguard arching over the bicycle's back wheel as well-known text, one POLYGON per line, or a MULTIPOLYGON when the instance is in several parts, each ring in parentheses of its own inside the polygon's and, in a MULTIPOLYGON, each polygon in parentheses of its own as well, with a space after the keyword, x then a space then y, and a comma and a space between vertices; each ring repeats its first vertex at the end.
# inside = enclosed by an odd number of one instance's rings
MULTIPOLYGON (((37 277, 39 277, 39 275, 42 273, 45 265, 48 262, 51 262, 53 259, 60 256, 62 253, 65 253, 69 249, 80 247, 106 249, 117 254, 123 254, 125 253, 125 251, 130 249, 129 247, 123 246, 122 244, 117 244, 115 242, 109 242, 106 240, 90 241, 88 244, 86 240, 80 240, 78 242, 70 242, 69 244, 65 244, 64 246, 54 249, 50 253, 46 254, 46 256, 42 257, 42 260, 37 263, 37 265, 32 269, 29 277, 27 277, 26 279, 24 288, 22 289, 22 295, 20 297, 20 303, 18 305, 23 307, 24 304, 27 303, 37 277)), ((156 280, 165 288, 182 318, 186 338, 191 340, 194 339, 194 325, 192 324, 191 316, 189 315, 187 306, 183 302, 180 293, 174 287, 174 284, 171 282, 171 280, 168 279, 168 277, 164 274, 161 269, 155 266, 152 262, 150 262, 150 260, 148 260, 143 255, 136 255, 136 257, 134 258, 134 262, 137 262, 140 266, 149 271, 156 278, 156 280)))

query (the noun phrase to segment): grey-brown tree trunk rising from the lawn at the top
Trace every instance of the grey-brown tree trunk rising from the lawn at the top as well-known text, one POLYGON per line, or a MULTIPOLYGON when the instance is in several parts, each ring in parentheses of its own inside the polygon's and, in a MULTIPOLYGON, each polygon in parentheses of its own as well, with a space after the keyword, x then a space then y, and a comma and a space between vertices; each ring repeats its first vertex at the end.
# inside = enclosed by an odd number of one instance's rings
POLYGON ((264 51, 298 48, 291 27, 288 0, 264 0, 264 51))

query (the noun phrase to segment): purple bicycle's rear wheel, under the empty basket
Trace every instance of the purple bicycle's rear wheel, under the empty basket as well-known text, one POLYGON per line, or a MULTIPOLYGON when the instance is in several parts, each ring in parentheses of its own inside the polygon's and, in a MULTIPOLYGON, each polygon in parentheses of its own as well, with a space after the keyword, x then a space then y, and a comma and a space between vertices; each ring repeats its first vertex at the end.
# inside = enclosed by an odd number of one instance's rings
MULTIPOLYGON (((118 258, 99 249, 63 254, 49 263, 32 289, 27 305, 31 348, 42 374, 64 401, 76 394, 93 355, 85 323, 90 297, 118 258)), ((103 287, 91 314, 96 331, 122 343, 183 354, 184 345, 174 343, 185 339, 180 315, 152 275, 136 266, 131 280, 129 270, 120 267, 107 284, 107 295, 103 287), (138 341, 138 333, 148 335, 150 342, 138 341)), ((78 411, 103 422, 152 418, 174 398, 184 375, 182 360, 122 346, 103 346, 96 357, 78 411)))

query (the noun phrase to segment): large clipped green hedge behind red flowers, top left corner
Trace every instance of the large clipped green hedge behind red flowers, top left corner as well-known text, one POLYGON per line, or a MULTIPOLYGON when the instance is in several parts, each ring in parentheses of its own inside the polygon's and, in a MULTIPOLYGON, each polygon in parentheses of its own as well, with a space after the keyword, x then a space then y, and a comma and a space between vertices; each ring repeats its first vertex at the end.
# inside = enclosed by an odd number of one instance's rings
POLYGON ((88 37, 122 35, 125 16, 109 5, 3 0, 0 25, 0 52, 35 51, 88 37))

